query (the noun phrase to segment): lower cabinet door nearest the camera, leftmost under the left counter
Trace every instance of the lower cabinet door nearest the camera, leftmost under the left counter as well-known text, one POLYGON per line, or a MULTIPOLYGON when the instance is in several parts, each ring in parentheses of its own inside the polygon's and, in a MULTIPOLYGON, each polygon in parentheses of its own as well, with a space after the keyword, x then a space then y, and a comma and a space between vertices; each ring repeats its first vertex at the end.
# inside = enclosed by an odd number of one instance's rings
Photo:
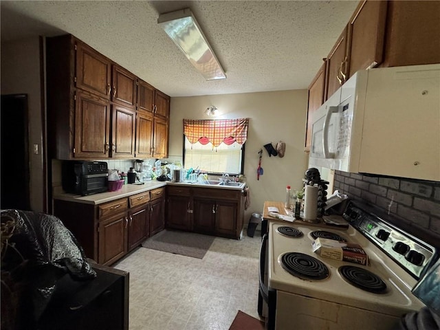
POLYGON ((110 265, 126 253, 126 214, 100 221, 98 263, 110 265))

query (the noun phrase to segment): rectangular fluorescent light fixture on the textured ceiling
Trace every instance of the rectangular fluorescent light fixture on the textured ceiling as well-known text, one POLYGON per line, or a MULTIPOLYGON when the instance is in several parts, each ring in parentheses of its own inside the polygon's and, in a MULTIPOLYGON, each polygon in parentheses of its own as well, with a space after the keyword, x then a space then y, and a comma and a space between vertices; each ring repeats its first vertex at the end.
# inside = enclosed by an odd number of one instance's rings
POLYGON ((166 34, 206 80, 226 78, 223 68, 189 8, 161 14, 157 24, 162 26, 166 34))

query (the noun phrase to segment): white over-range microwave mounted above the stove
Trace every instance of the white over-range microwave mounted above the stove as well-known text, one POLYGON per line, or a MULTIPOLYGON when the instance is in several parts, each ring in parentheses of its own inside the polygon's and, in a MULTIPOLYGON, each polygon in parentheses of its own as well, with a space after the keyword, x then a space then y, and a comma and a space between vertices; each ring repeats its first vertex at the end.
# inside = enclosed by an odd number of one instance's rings
POLYGON ((440 181, 440 64, 357 72, 312 119, 309 167, 440 181))

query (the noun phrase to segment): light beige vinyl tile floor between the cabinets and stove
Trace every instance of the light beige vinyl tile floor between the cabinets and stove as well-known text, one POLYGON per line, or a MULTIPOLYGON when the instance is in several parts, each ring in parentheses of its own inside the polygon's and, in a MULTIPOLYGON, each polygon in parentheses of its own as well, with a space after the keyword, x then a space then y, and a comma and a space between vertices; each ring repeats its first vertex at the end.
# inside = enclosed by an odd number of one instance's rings
POLYGON ((203 259, 138 248, 115 268, 130 272, 130 330, 228 330, 237 311, 254 318, 260 232, 216 237, 203 259))

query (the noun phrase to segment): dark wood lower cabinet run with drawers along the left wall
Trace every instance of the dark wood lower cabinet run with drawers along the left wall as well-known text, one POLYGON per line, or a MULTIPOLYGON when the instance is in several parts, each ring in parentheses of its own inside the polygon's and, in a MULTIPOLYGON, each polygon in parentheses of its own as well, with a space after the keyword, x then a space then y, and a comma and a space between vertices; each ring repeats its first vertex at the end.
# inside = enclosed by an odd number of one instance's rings
POLYGON ((98 205, 55 199, 54 215, 74 234, 88 258, 111 265, 164 230, 165 188, 98 205))

